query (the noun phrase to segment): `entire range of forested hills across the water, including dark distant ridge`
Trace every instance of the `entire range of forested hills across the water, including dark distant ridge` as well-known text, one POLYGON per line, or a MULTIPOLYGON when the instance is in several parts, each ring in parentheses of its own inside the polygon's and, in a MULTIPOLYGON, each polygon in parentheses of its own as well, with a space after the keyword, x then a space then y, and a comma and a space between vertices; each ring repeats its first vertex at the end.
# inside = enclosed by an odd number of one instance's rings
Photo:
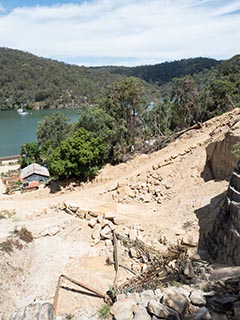
POLYGON ((110 84, 126 76, 143 79, 144 100, 150 102, 161 94, 156 84, 209 69, 218 63, 197 58, 135 68, 87 68, 0 48, 0 110, 20 106, 43 109, 92 105, 107 95, 110 84))

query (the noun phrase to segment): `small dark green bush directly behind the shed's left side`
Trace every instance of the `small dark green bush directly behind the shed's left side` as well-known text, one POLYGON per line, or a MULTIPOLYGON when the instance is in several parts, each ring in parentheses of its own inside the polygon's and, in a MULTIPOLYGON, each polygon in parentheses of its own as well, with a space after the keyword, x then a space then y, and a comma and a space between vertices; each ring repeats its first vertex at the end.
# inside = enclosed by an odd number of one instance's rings
POLYGON ((28 142, 21 146, 20 164, 24 168, 33 162, 39 161, 40 150, 36 142, 28 142))

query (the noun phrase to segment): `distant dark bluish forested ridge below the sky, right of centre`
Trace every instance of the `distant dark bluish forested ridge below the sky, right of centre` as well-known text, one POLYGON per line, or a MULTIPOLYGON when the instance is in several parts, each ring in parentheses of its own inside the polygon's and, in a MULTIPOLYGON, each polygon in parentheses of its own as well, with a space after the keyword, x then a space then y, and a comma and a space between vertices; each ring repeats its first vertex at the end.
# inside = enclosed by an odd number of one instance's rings
MULTIPOLYGON (((193 75, 203 70, 217 67, 221 61, 210 58, 182 59, 173 62, 164 62, 155 65, 144 65, 138 67, 101 67, 101 70, 112 74, 121 74, 141 78, 147 82, 161 86, 173 78, 193 75)), ((95 68, 97 69, 97 68, 95 68)))

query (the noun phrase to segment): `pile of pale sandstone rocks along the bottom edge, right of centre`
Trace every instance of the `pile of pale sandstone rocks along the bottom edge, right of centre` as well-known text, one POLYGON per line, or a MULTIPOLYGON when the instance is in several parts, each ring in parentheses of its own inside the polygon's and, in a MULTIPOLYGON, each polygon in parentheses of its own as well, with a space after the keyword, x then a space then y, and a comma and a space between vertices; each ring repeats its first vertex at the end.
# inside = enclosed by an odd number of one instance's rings
POLYGON ((121 294, 117 296, 111 314, 115 320, 212 319, 206 305, 207 300, 201 290, 168 287, 163 291, 121 294))

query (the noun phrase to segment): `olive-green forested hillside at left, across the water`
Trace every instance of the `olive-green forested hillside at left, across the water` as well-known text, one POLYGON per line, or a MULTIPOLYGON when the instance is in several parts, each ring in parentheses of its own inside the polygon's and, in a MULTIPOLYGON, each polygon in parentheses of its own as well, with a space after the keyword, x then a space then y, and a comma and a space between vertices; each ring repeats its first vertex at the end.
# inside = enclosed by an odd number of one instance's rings
MULTIPOLYGON (((0 48, 0 110, 91 105, 106 94, 111 83, 123 77, 0 48)), ((156 87, 144 81, 142 84, 147 100, 159 96, 156 87)))

